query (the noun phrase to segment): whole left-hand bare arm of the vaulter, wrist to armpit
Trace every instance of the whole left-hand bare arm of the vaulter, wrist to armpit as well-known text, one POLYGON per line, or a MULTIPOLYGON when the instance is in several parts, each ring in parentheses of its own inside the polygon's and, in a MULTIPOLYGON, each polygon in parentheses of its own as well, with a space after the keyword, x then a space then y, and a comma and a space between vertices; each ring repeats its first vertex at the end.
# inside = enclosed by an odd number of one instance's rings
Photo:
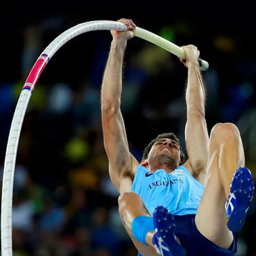
POLYGON ((104 147, 110 163, 110 176, 119 189, 120 175, 131 170, 131 157, 120 111, 122 67, 126 41, 113 40, 101 89, 104 147))

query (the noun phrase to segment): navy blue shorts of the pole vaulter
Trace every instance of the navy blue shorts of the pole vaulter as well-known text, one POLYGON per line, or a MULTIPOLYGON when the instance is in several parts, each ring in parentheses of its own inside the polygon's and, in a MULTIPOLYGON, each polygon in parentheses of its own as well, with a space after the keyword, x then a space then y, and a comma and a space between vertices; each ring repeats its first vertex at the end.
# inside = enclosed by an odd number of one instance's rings
POLYGON ((187 256, 228 256, 237 252, 237 234, 234 233, 234 241, 229 250, 218 247, 205 238, 197 229, 195 214, 173 216, 176 221, 175 235, 180 239, 186 250, 187 256))

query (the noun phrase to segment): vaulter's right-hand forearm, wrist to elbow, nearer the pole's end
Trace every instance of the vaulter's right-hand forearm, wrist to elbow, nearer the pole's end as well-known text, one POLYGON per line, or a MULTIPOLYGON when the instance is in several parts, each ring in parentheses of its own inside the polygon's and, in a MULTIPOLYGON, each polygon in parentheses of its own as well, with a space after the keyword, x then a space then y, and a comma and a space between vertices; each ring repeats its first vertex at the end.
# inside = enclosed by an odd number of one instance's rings
POLYGON ((186 89, 187 110, 204 115, 205 91, 198 62, 188 63, 188 83, 186 89))

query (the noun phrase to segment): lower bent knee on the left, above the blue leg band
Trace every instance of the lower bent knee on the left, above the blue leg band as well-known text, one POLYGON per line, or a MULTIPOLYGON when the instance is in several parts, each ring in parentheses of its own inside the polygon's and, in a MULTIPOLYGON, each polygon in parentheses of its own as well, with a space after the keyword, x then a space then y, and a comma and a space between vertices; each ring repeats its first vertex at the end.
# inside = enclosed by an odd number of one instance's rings
POLYGON ((140 196, 133 192, 125 192, 118 197, 118 210, 121 216, 128 210, 128 208, 138 205, 138 201, 141 200, 140 196))

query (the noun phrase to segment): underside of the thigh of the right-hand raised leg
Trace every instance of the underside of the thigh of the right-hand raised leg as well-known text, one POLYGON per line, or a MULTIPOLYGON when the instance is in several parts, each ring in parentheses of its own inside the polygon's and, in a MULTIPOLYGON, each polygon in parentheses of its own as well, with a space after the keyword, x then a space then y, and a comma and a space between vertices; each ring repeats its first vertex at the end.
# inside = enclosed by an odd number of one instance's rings
POLYGON ((217 246, 228 248, 233 241, 233 234, 227 227, 226 196, 216 168, 218 157, 215 157, 212 152, 209 160, 205 188, 195 217, 195 224, 205 238, 217 246))

